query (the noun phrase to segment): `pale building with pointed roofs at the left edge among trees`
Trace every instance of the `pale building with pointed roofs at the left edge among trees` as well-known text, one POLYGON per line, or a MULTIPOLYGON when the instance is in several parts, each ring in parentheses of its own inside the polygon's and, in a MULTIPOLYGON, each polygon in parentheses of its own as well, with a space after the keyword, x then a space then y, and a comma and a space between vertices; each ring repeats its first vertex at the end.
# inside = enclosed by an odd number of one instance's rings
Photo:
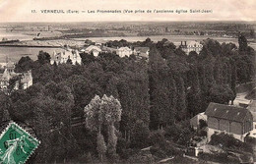
MULTIPOLYGON (((28 71, 27 73, 15 73, 14 72, 15 65, 11 62, 6 64, 5 70, 3 74, 0 74, 0 89, 7 89, 9 82, 11 79, 15 77, 20 77, 20 84, 23 89, 27 89, 32 85, 32 71, 28 71)), ((15 89, 20 87, 19 82, 16 83, 15 89)))

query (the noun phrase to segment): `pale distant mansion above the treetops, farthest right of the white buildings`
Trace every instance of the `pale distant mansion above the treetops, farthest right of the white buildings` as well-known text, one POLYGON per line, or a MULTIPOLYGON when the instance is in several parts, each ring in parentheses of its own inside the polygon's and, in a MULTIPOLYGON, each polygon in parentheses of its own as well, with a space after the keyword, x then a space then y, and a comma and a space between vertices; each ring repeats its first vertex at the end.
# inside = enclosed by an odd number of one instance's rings
POLYGON ((181 41, 180 48, 188 55, 191 51, 195 51, 197 54, 203 49, 203 44, 198 41, 190 41, 187 44, 187 41, 181 41))

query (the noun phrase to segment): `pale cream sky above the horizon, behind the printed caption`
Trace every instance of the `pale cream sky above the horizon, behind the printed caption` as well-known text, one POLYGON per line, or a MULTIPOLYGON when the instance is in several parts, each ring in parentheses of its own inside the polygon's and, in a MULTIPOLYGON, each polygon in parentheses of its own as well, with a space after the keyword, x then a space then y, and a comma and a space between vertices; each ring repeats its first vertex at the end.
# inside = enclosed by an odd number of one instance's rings
POLYGON ((0 22, 256 21, 255 9, 256 0, 0 0, 0 22), (80 13, 43 14, 41 10, 80 13), (174 13, 88 13, 94 10, 173 10, 174 13), (177 14, 176 10, 212 12, 177 14))

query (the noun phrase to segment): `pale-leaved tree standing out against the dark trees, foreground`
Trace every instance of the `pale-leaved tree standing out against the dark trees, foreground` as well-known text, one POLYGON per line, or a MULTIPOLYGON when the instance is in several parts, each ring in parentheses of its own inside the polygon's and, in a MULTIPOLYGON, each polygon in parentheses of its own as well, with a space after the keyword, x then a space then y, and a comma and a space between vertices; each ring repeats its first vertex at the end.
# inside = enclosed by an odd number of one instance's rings
POLYGON ((107 152, 109 155, 115 155, 117 137, 115 135, 114 123, 121 120, 121 104, 112 95, 107 97, 105 94, 100 99, 98 95, 89 105, 85 107, 87 127, 97 131, 97 150, 99 157, 104 152, 103 138, 101 138, 101 126, 106 124, 108 128, 107 152))

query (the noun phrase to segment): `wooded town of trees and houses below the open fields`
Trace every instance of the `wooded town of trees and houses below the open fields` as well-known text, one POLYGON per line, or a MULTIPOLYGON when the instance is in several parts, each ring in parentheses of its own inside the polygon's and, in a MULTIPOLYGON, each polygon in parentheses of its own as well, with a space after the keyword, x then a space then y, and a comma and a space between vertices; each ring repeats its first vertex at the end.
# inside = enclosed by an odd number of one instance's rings
POLYGON ((238 45, 85 39, 35 60, 9 54, 2 121, 41 140, 32 163, 252 163, 255 51, 245 35, 236 32, 238 45))

